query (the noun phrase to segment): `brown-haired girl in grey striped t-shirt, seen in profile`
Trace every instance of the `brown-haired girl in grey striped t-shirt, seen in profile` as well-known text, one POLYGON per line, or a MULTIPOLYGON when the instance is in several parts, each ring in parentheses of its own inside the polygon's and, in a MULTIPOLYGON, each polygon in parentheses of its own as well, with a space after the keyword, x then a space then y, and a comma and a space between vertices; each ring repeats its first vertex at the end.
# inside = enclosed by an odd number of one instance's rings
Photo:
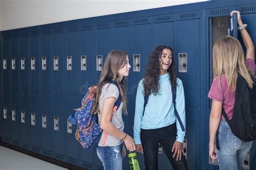
POLYGON ((98 112, 99 124, 103 132, 96 151, 106 170, 122 169, 122 150, 123 157, 125 157, 125 148, 122 148, 123 141, 127 150, 134 151, 136 149, 132 137, 123 132, 124 122, 122 119, 122 111, 127 114, 125 77, 129 75, 130 68, 126 52, 111 51, 106 57, 104 69, 97 84, 93 112, 98 112), (114 103, 117 101, 119 93, 122 102, 114 112, 114 103))

